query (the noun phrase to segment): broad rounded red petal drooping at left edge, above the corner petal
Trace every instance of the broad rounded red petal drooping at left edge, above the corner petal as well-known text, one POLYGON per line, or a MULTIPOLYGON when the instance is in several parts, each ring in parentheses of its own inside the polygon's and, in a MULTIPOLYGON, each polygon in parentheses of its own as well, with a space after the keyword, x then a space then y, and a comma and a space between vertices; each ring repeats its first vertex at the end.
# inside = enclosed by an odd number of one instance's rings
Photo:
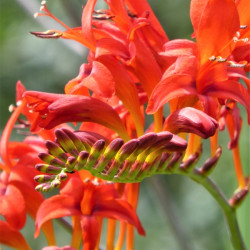
POLYGON ((8 185, 6 190, 0 190, 0 194, 0 214, 11 227, 20 230, 26 221, 26 208, 22 193, 15 186, 8 185))

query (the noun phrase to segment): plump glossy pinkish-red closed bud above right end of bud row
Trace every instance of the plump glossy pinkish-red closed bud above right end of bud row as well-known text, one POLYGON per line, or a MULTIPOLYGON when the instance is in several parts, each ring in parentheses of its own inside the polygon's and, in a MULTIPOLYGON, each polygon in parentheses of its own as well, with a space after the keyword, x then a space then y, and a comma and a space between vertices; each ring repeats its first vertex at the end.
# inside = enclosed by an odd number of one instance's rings
POLYGON ((173 112, 164 123, 164 130, 174 134, 194 133, 206 139, 214 135, 218 123, 204 112, 187 107, 173 112))

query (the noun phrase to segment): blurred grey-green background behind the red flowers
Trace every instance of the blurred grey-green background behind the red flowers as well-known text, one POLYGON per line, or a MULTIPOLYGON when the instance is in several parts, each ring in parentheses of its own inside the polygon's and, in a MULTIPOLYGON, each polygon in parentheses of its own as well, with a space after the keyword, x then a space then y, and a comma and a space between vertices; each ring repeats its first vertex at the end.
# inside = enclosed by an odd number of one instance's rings
MULTIPOLYGON (((151 0, 156 16, 169 38, 190 38, 189 1, 151 0)), ((47 1, 49 9, 69 26, 80 26, 82 0, 47 1)), ((101 5, 101 3, 100 3, 101 5)), ((58 25, 47 17, 33 18, 39 11, 37 0, 0 1, 0 127, 9 117, 8 106, 15 103, 17 80, 29 90, 63 93, 64 85, 78 74, 87 51, 74 42, 43 40, 30 31, 44 31, 58 25)), ((250 130, 246 112, 240 139, 245 174, 250 173, 250 130)), ((237 187, 232 155, 227 150, 228 136, 223 132, 223 155, 212 178, 229 198, 237 187)), ((209 157, 205 142, 200 164, 209 157)), ((141 184, 138 214, 146 238, 136 235, 135 249, 145 250, 232 250, 220 208, 202 187, 182 176, 156 176, 141 184)), ((250 249, 250 197, 238 210, 240 229, 250 249)), ((70 235, 55 223, 58 246, 70 244, 70 235)), ((34 223, 28 219, 23 234, 32 249, 46 245, 43 235, 33 239, 34 223)), ((9 249, 2 246, 2 249, 9 249)))

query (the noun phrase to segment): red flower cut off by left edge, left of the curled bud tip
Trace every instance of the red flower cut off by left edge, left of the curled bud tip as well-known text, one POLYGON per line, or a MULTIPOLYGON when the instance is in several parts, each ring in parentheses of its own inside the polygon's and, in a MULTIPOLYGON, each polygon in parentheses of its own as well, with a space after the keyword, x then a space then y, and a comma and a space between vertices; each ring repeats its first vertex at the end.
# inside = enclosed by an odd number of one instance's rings
MULTIPOLYGON (((3 171, 0 174, 0 214, 6 220, 6 223, 0 221, 1 229, 4 230, 4 233, 0 234, 0 242, 18 249, 28 249, 28 244, 19 230, 25 225, 27 213, 35 219, 38 207, 44 200, 43 196, 35 191, 34 181, 38 174, 34 164, 40 162, 37 149, 44 149, 44 146, 41 140, 29 138, 24 143, 10 143, 8 147, 9 159, 13 166, 9 173, 3 171)), ((0 168, 3 166, 1 164, 0 168)), ((48 243, 55 244, 52 224, 47 223, 43 230, 48 243)))

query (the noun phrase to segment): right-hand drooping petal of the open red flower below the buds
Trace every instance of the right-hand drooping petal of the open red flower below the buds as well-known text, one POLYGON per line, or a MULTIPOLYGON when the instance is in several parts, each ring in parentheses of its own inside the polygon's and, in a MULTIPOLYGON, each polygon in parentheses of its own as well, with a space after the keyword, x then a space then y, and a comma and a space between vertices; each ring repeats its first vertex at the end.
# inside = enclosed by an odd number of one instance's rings
POLYGON ((93 215, 108 217, 112 219, 122 220, 134 225, 141 235, 145 235, 145 231, 131 205, 125 200, 105 200, 98 201, 93 208, 93 215))

